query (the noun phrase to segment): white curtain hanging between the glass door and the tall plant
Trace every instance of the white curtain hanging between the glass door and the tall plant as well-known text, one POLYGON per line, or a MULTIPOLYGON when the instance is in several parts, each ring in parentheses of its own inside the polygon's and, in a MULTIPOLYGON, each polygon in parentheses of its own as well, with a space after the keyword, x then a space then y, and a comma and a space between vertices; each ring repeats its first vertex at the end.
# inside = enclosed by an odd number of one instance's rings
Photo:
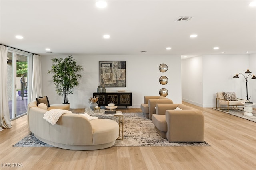
POLYGON ((41 60, 39 55, 33 55, 33 73, 32 73, 32 90, 31 101, 42 96, 42 73, 41 60))

